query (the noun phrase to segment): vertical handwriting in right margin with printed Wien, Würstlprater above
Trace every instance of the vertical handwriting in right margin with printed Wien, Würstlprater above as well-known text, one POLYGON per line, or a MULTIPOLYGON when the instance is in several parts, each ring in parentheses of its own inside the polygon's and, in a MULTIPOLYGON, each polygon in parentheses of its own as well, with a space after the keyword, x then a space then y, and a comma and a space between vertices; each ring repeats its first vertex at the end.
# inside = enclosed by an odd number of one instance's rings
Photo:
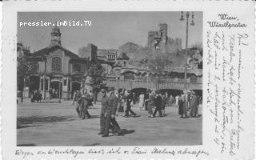
POLYGON ((248 47, 247 25, 235 16, 218 14, 218 22, 208 22, 206 81, 207 111, 214 125, 214 143, 222 154, 234 156, 240 150, 242 132, 242 54, 248 47), (218 28, 218 30, 214 30, 218 28), (236 30, 238 29, 239 30, 236 30), (234 30, 233 30, 234 29, 234 30))

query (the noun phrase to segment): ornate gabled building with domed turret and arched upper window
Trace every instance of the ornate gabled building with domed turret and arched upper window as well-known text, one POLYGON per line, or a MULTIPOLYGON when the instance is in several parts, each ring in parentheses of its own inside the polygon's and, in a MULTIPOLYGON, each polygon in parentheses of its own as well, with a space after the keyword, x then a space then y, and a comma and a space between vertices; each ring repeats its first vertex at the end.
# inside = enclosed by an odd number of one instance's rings
POLYGON ((38 71, 31 75, 31 90, 40 90, 43 98, 50 97, 50 90, 55 90, 58 98, 72 98, 74 90, 79 90, 86 80, 90 66, 89 58, 80 58, 62 46, 61 32, 54 26, 50 33, 50 45, 29 55, 30 61, 36 62, 38 71))

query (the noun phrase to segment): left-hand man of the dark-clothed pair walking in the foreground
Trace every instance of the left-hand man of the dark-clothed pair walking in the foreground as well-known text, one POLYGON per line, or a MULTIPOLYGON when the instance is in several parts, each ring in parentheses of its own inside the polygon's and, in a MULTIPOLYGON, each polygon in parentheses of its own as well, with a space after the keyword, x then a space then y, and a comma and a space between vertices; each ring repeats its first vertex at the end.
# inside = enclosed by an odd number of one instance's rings
POLYGON ((104 134, 105 132, 105 126, 106 126, 106 118, 105 118, 105 114, 106 114, 106 108, 108 106, 108 101, 109 98, 106 95, 106 89, 102 89, 102 108, 101 108, 101 115, 100 115, 100 132, 98 134, 104 134))

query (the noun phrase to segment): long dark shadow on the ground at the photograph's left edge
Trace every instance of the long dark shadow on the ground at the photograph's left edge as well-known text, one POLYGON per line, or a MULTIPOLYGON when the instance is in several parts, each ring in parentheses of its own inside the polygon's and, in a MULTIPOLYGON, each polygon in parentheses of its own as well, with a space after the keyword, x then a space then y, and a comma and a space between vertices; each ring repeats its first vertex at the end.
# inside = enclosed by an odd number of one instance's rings
POLYGON ((19 118, 17 118, 17 129, 21 129, 21 128, 25 128, 25 127, 32 127, 32 126, 40 126, 40 125, 31 125, 31 124, 37 123, 37 122, 47 123, 47 122, 73 121, 73 120, 74 119, 72 119, 72 117, 68 117, 68 116, 19 117, 19 118))

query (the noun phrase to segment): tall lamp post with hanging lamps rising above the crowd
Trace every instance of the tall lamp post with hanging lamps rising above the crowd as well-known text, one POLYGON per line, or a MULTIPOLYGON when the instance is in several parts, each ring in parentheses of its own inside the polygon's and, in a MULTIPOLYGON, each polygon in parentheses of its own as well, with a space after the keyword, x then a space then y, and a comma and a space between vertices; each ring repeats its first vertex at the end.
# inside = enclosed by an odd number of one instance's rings
MULTIPOLYGON (((191 20, 191 23, 190 23, 190 25, 191 26, 194 26, 194 12, 192 12, 192 20, 191 20)), ((185 91, 186 91, 186 93, 184 93, 185 94, 185 104, 186 104, 186 109, 187 109, 187 79, 186 79, 186 77, 187 77, 187 46, 188 46, 188 30, 189 30, 189 18, 190 18, 190 12, 186 12, 186 58, 185 58, 185 86, 184 86, 184 88, 185 88, 185 91)), ((184 20, 184 17, 183 17, 183 12, 181 13, 181 18, 179 19, 180 21, 183 21, 184 20)))

